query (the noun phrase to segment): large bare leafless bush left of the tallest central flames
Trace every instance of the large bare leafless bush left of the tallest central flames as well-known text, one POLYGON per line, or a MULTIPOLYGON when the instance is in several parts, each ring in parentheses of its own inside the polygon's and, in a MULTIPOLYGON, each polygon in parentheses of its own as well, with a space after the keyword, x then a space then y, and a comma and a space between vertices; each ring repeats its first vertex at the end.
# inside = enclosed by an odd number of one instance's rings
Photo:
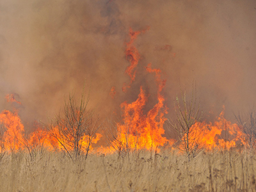
POLYGON ((63 113, 56 116, 48 127, 51 136, 73 160, 81 154, 85 154, 86 159, 92 143, 99 139, 99 118, 94 118, 93 111, 87 109, 88 102, 89 95, 84 92, 79 103, 74 94, 70 94, 65 101, 63 113))

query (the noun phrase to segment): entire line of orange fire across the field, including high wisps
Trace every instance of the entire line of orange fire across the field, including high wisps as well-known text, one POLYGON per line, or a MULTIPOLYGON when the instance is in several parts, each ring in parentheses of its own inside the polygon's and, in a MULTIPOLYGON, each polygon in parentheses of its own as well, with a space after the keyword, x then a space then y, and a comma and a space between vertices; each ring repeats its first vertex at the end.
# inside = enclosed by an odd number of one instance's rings
MULTIPOLYGON (((126 92, 127 88, 131 87, 132 82, 136 77, 136 67, 140 61, 140 53, 134 46, 134 40, 143 31, 133 31, 130 28, 129 37, 130 41, 126 43, 125 55, 127 60, 131 63, 126 68, 125 74, 130 78, 128 85, 124 84, 123 91, 126 92)), ((170 51, 172 47, 166 45, 164 50, 170 51)), ((174 55, 175 56, 175 53, 174 55)), ((131 150, 157 150, 158 147, 164 145, 179 145, 182 148, 184 141, 189 138, 189 148, 205 149, 205 150, 230 150, 230 148, 248 146, 246 142, 246 135, 239 128, 237 124, 232 124, 224 118, 224 109, 220 116, 214 122, 196 122, 190 127, 189 135, 184 135, 183 140, 177 144, 173 139, 164 137, 164 123, 166 122, 165 115, 168 113, 168 108, 164 105, 163 88, 166 80, 161 79, 161 70, 159 68, 152 68, 151 63, 145 67, 145 72, 154 75, 157 86, 157 99, 156 104, 150 110, 145 109, 148 97, 150 95, 145 93, 145 90, 140 86, 140 93, 138 99, 134 102, 122 102, 120 108, 122 110, 122 121, 116 123, 116 135, 114 140, 111 140, 111 146, 115 150, 131 151, 131 150)), ((116 88, 113 86, 109 93, 112 98, 116 95, 116 88)), ((6 95, 7 102, 17 102, 13 94, 6 95)), ((24 149, 38 149, 45 148, 50 151, 72 150, 75 148, 76 143, 72 138, 72 132, 68 132, 67 124, 60 127, 51 127, 52 129, 42 129, 40 125, 36 125, 34 132, 25 136, 24 125, 22 124, 17 110, 13 112, 4 110, 0 113, 1 128, 1 145, 0 151, 18 151, 24 149), (61 134, 66 134, 63 137, 61 134)), ((74 112, 74 111, 73 111, 74 112)), ((81 111, 76 111, 77 116, 81 111)), ((76 114, 74 115, 76 119, 76 114)), ((72 122, 70 122, 72 124, 72 122)), ((81 122, 79 122, 81 123, 81 122)), ((76 122, 74 123, 76 124, 76 122)), ((60 125, 61 126, 61 125, 60 125)), ((97 143, 101 134, 95 133, 92 135, 84 134, 83 138, 79 140, 77 145, 81 146, 82 152, 92 150, 92 143, 97 143)), ((99 147, 98 152, 111 152, 111 147, 99 147)))

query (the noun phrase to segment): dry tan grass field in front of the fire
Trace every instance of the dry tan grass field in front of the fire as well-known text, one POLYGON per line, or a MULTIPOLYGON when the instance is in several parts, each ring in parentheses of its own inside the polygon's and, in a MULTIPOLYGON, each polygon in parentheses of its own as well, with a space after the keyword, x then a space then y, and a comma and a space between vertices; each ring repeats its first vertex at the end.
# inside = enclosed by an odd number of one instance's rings
POLYGON ((175 152, 150 158, 90 155, 75 163, 61 153, 9 154, 0 162, 0 191, 255 191, 255 155, 175 152))

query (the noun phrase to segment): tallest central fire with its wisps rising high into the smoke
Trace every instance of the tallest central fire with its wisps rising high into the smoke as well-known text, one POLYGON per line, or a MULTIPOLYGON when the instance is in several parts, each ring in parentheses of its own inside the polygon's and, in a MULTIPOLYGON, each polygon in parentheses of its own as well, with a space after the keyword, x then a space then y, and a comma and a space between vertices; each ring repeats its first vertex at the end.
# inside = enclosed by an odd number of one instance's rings
MULTIPOLYGON (((130 29, 131 40, 127 43, 126 56, 129 56, 131 65, 127 67, 125 72, 131 77, 131 83, 135 79, 136 69, 140 54, 133 42, 140 31, 132 31, 130 29)), ((163 137, 164 129, 163 125, 166 121, 164 114, 167 113, 164 107, 164 97, 161 95, 161 91, 166 83, 165 80, 161 80, 161 70, 152 68, 151 63, 146 67, 148 73, 155 74, 157 90, 157 104, 150 109, 147 113, 144 111, 145 104, 148 99, 148 95, 145 94, 142 87, 140 87, 140 94, 131 104, 123 102, 120 107, 123 111, 123 121, 118 123, 117 127, 117 146, 119 150, 134 150, 146 148, 148 150, 156 150, 157 147, 163 146, 168 143, 168 140, 163 137)), ((131 84, 130 83, 130 84, 131 84)), ((123 88, 124 90, 124 88, 123 88)), ((116 142, 116 141, 115 141, 116 142)), ((112 145, 115 146, 115 143, 112 145)))

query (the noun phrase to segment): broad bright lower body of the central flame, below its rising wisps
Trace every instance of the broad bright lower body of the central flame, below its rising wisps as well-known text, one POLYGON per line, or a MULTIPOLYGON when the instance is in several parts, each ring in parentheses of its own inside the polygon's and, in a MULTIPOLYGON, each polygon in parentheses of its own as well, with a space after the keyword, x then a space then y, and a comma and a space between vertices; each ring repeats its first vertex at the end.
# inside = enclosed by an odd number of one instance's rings
POLYGON ((141 87, 137 100, 131 104, 127 102, 121 104, 124 114, 123 122, 117 124, 117 140, 123 148, 152 150, 152 148, 163 146, 168 141, 162 136, 164 134, 163 124, 166 120, 164 112, 166 111, 159 112, 163 108, 163 100, 159 97, 154 108, 145 114, 143 108, 147 102, 147 96, 141 87))

